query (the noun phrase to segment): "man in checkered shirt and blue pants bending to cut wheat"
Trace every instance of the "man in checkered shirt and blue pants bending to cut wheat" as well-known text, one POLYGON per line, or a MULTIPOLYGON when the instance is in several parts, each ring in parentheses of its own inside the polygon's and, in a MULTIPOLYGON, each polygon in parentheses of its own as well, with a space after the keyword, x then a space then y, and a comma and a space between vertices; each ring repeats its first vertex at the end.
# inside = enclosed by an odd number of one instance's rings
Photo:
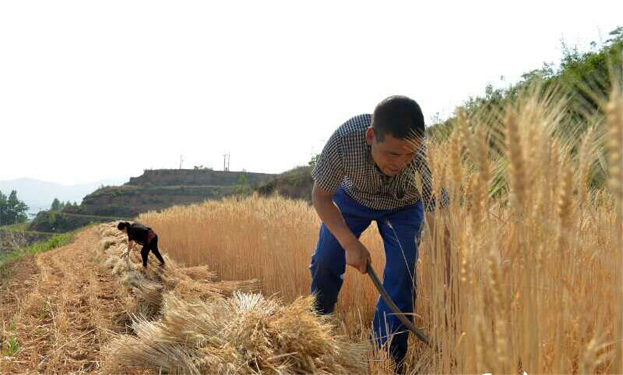
MULTIPOLYGON (((332 313, 346 265, 366 272, 370 252, 359 236, 375 220, 386 254, 383 286, 403 313, 413 313, 417 239, 424 210, 433 225, 430 212, 435 209, 419 105, 390 96, 372 115, 346 121, 327 141, 312 177, 312 202, 323 222, 309 265, 318 311, 332 313)), ((448 199, 445 191, 442 195, 444 207, 448 199)), ((408 335, 383 299, 377 302, 373 326, 379 345, 392 335, 390 354, 401 367, 408 335)))

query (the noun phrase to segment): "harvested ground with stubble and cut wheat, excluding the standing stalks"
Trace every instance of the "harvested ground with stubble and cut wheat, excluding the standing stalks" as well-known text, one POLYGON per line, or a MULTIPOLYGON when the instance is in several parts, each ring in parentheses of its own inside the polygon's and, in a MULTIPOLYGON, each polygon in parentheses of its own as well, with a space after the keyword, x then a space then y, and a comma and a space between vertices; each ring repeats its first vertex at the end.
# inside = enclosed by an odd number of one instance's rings
POLYGON ((3 287, 3 342, 19 343, 0 372, 19 374, 345 374, 368 348, 311 312, 311 299, 263 297, 258 281, 219 281, 205 265, 161 270, 123 259, 116 224, 19 263, 3 287), (35 259, 30 259, 35 260, 35 259), (26 293, 28 291, 28 293, 26 293), (5 339, 6 337, 6 339, 5 339))

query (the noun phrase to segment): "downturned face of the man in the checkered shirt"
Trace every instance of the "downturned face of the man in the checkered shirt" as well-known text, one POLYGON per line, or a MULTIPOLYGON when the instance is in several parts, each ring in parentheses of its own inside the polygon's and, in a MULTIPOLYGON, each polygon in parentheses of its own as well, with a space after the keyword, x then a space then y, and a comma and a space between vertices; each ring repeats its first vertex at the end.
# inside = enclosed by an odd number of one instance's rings
POLYGON ((370 145, 374 163, 388 176, 397 175, 412 162, 422 143, 419 139, 399 139, 390 134, 385 134, 383 141, 378 142, 372 127, 365 132, 365 141, 370 145))

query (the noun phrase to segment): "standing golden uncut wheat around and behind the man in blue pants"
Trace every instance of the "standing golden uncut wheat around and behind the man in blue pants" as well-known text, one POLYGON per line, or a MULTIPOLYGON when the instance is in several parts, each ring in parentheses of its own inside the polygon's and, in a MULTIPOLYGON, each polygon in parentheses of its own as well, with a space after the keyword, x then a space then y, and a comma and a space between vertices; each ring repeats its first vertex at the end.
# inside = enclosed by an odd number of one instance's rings
MULTIPOLYGON (((435 345, 411 341, 411 372, 623 372, 621 90, 602 103, 601 115, 566 123, 564 98, 532 90, 505 108, 458 113, 448 139, 429 145, 435 191, 451 197, 435 211, 451 252, 437 251, 440 231, 424 230, 414 321, 435 345), (573 131, 561 134, 563 126, 573 131), (606 173, 606 187, 590 185, 595 171, 606 173)), ((264 295, 285 302, 309 295, 320 222, 305 202, 253 195, 138 220, 181 263, 207 264, 225 280, 260 279, 264 295)), ((362 241, 382 270, 374 226, 362 241)), ((349 268, 336 316, 352 340, 368 340, 376 301, 369 279, 349 268)))

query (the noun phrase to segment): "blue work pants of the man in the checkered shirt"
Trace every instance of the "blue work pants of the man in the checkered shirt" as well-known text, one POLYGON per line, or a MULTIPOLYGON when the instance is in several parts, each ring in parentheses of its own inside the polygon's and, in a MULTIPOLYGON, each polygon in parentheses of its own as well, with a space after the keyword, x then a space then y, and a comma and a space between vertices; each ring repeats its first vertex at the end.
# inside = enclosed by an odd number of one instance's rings
MULTIPOLYGON (((400 209, 379 211, 359 204, 343 188, 336 191, 333 201, 357 238, 372 220, 377 222, 386 256, 383 286, 398 308, 408 314, 408 319, 412 319, 417 238, 424 218, 422 202, 400 209)), ((316 252, 311 256, 309 270, 311 293, 316 295, 318 312, 332 313, 343 283, 346 256, 343 247, 324 224, 320 227, 316 252)), ((385 345, 391 337, 390 354, 401 365, 407 350, 408 331, 380 297, 374 312, 373 328, 377 345, 385 345)))

